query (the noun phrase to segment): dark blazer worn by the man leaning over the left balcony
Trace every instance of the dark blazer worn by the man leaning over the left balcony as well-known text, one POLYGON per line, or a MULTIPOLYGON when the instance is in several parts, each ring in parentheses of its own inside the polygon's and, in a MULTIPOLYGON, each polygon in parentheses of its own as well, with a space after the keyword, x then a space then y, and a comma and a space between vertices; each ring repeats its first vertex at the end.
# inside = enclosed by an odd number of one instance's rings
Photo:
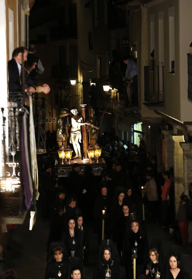
POLYGON ((21 92, 20 75, 17 62, 14 58, 8 61, 9 92, 21 92))

